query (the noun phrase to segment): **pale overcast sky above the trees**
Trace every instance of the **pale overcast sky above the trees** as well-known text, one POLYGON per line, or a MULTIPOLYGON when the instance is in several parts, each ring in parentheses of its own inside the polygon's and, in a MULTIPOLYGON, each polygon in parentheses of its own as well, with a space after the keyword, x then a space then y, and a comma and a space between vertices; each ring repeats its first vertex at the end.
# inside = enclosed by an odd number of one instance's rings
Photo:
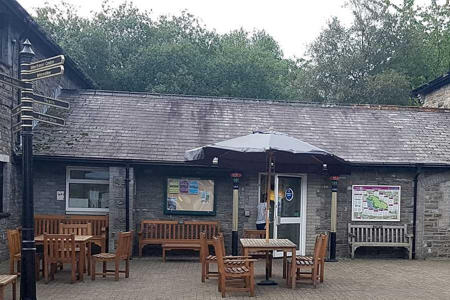
MULTIPOLYGON (((90 11, 101 8, 101 0, 65 1, 79 6, 82 15, 89 15, 90 11)), ((44 1, 18 2, 32 12, 33 7, 44 1)), ((122 0, 111 1, 113 4, 121 2, 122 0)), ((346 24, 351 23, 350 12, 342 7, 345 0, 133 0, 133 3, 140 9, 151 10, 152 16, 179 14, 181 10, 187 9, 200 18, 207 28, 215 28, 219 33, 240 27, 248 31, 264 29, 278 41, 286 57, 302 56, 306 45, 318 35, 331 16, 338 16, 346 24)))

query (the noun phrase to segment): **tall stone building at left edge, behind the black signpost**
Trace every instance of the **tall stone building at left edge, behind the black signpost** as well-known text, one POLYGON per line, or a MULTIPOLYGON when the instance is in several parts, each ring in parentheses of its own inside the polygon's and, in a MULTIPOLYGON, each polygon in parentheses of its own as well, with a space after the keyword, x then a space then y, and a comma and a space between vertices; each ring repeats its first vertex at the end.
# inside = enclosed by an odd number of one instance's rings
MULTIPOLYGON (((0 72, 18 78, 18 52, 28 38, 36 53, 35 60, 63 54, 64 51, 35 23, 30 15, 14 0, 0 0, 0 72)), ((66 56, 63 76, 35 82, 35 92, 56 97, 61 88, 95 88, 96 84, 66 56)), ((14 155, 20 138, 12 134, 17 123, 11 108, 19 101, 16 88, 0 83, 0 259, 8 257, 5 229, 20 225, 20 161, 14 155)), ((35 107, 45 112, 47 107, 35 107)))

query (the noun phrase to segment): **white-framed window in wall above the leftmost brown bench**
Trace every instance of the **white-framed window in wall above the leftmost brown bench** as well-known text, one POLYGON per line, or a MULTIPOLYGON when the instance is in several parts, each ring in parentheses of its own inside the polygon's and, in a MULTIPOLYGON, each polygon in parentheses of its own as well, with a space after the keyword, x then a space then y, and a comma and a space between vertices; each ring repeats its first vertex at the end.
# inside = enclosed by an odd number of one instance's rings
POLYGON ((109 211, 109 169, 68 166, 65 184, 67 212, 109 211))

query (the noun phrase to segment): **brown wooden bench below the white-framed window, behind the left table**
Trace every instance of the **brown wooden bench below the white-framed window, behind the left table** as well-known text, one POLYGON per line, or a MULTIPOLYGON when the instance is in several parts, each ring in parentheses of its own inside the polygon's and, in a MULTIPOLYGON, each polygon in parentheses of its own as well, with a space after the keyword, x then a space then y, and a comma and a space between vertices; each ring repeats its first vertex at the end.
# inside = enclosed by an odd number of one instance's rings
POLYGON ((61 214, 35 214, 34 236, 59 234, 59 223, 63 224, 91 224, 92 242, 100 246, 101 252, 106 252, 108 239, 108 215, 61 215, 61 214))

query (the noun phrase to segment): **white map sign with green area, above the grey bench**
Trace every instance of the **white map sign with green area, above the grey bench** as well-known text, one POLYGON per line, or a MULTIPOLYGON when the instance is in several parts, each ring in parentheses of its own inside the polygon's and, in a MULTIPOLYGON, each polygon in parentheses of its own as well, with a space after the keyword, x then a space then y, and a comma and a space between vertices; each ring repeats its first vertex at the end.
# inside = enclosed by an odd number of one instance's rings
POLYGON ((399 221, 400 186, 353 185, 352 221, 399 221))

